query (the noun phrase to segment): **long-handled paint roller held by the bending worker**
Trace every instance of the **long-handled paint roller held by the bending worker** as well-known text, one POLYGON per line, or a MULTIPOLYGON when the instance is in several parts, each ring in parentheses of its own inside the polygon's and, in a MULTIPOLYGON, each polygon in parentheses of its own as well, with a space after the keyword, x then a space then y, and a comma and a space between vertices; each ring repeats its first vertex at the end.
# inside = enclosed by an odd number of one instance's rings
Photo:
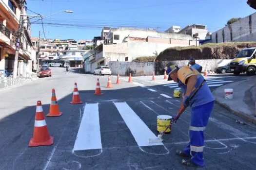
MULTIPOLYGON (((194 98, 194 96, 197 94, 197 91, 204 85, 204 83, 205 83, 205 79, 204 79, 203 82, 198 86, 198 88, 196 89, 195 93, 193 93, 192 96, 190 96, 189 101, 191 101, 191 100, 194 98)), ((180 115, 185 111, 186 108, 187 108, 187 107, 185 107, 185 106, 183 105, 183 107, 181 107, 180 110, 178 110, 177 115, 176 115, 174 118, 171 119, 171 123, 165 128, 165 130, 164 130, 164 131, 161 131, 157 138, 149 138, 149 139, 148 139, 148 142, 149 142, 149 143, 160 143, 160 142, 162 142, 162 141, 163 141, 163 139, 162 139, 163 134, 167 131, 167 129, 168 129, 169 127, 172 126, 172 124, 174 124, 174 123, 177 122, 177 119, 178 119, 178 118, 180 117, 180 115)))

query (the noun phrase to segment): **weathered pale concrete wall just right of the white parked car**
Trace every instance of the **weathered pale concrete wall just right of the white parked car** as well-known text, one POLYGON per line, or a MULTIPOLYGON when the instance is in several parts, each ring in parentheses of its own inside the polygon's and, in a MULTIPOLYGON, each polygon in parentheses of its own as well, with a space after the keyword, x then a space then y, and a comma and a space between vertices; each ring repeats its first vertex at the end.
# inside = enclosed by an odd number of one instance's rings
POLYGON ((111 68, 112 74, 120 76, 143 76, 152 75, 155 71, 155 63, 135 63, 135 62, 117 62, 111 61, 108 66, 111 68))

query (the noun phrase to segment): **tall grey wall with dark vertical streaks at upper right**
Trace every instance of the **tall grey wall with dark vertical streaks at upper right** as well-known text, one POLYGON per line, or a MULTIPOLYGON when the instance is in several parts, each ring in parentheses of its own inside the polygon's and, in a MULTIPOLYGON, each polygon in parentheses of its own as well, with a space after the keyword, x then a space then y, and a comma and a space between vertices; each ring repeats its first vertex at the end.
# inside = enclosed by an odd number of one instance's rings
POLYGON ((244 17, 212 34, 213 43, 256 41, 256 13, 244 17))

